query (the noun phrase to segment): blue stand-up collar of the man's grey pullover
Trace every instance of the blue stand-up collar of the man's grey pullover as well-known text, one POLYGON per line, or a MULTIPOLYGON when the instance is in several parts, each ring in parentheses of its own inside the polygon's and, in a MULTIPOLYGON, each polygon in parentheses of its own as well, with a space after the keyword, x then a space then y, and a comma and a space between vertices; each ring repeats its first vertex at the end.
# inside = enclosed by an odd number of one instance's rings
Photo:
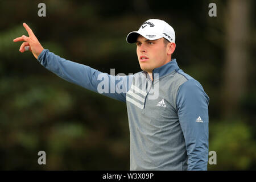
MULTIPOLYGON (((155 74, 157 73, 157 74, 159 74, 158 78, 160 78, 160 77, 163 77, 163 76, 167 75, 168 73, 171 73, 171 72, 173 72, 175 70, 177 71, 179 69, 180 68, 177 65, 176 59, 172 59, 170 62, 162 65, 162 67, 153 69, 152 75, 155 78, 155 74)), ((144 72, 144 73, 146 73, 146 75, 148 76, 147 72, 144 72)))

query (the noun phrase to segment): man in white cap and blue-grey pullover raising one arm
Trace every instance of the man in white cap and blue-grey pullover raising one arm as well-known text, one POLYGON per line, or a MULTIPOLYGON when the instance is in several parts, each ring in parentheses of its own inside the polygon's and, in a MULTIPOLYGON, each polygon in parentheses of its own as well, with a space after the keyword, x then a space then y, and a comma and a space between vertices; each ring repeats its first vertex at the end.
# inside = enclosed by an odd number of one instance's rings
POLYGON ((142 72, 129 76, 101 73, 44 49, 32 30, 21 36, 25 48, 49 71, 94 92, 126 102, 131 170, 207 170, 209 97, 198 81, 171 59, 174 29, 149 19, 127 36, 137 44, 142 72), (29 46, 29 47, 28 47, 29 46), (102 79, 107 84, 102 85, 102 79), (113 89, 113 86, 114 89, 113 89))

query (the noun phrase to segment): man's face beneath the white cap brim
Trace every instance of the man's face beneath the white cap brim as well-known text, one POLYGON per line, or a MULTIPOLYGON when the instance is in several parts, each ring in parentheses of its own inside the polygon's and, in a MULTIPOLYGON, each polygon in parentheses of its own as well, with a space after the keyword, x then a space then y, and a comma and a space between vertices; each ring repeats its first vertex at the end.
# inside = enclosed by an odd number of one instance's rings
POLYGON ((137 38, 137 56, 143 71, 152 73, 152 70, 171 61, 170 47, 166 46, 164 38, 148 40, 139 35, 137 38))

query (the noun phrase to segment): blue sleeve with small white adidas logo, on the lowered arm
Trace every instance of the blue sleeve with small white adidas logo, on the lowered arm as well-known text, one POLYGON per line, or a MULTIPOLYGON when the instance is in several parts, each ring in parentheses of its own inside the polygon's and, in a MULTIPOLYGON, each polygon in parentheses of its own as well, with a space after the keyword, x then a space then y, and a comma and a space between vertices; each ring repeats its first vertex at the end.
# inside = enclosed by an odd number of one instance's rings
POLYGON ((180 85, 176 97, 177 114, 188 155, 188 170, 207 170, 209 97, 196 80, 180 85))

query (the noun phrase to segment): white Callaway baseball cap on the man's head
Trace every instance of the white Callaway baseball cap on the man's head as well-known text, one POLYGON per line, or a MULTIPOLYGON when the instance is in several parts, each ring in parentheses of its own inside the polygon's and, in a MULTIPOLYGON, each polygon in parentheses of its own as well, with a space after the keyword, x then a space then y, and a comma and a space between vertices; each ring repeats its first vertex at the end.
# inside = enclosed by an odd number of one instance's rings
POLYGON ((160 19, 148 19, 142 23, 138 31, 130 32, 127 35, 127 43, 135 43, 139 35, 142 35, 148 40, 156 40, 166 38, 169 42, 175 43, 174 28, 170 24, 160 19))

